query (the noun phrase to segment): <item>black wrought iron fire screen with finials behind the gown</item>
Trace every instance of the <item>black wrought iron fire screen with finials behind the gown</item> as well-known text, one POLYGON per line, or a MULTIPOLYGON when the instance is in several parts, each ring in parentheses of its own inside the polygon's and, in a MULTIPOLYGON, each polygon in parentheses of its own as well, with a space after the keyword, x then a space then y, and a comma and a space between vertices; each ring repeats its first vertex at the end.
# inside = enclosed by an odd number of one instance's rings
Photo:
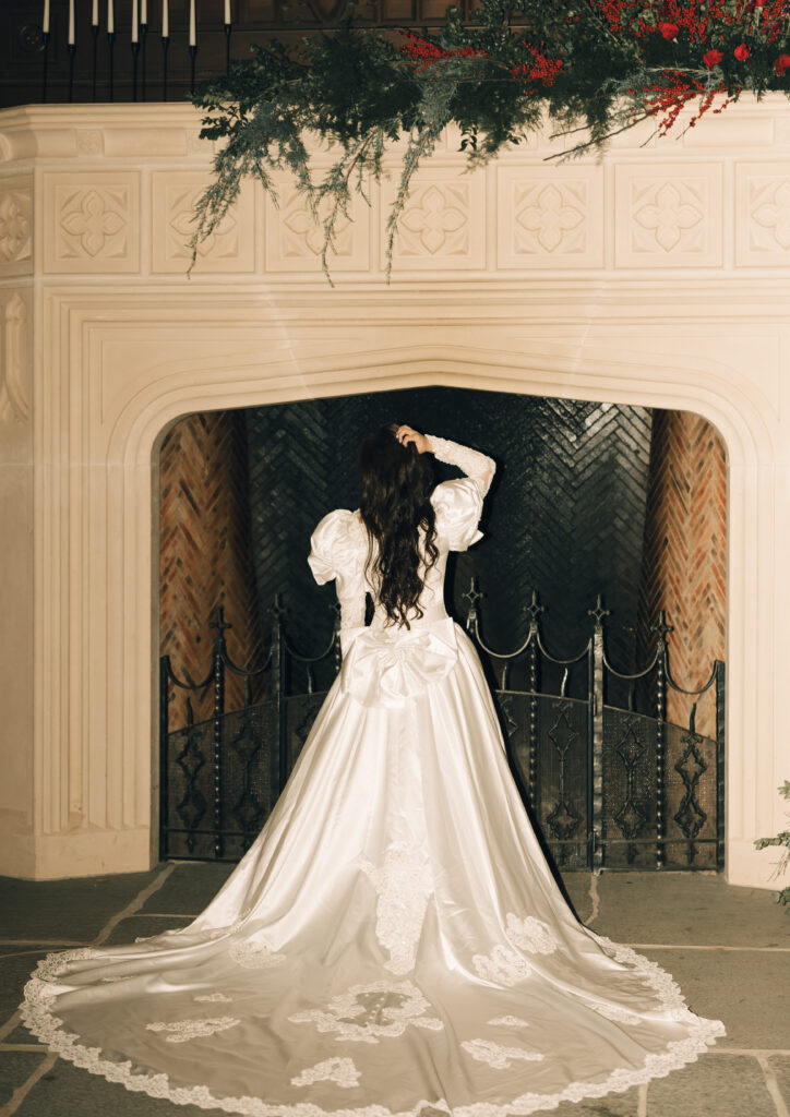
MULTIPOLYGON (((475 580, 466 628, 483 652, 513 775, 545 849, 561 869, 715 869, 724 856, 725 667, 715 660, 704 686, 673 678, 664 612, 653 626, 650 661, 636 674, 609 661, 598 595, 588 610, 591 633, 577 655, 545 647, 533 592, 529 630, 515 650, 483 639, 475 580), (558 680, 553 693, 543 678, 558 680), (617 681, 625 708, 607 704, 617 681), (625 690, 624 690, 625 687, 625 690), (666 720, 667 688, 694 698, 688 725, 666 720), (715 737, 697 733, 697 703, 715 703, 715 737)), ((228 657, 223 610, 211 623, 211 663, 197 684, 160 661, 160 853, 236 861, 253 843, 282 792, 313 719, 340 670, 340 617, 316 656, 294 649, 277 595, 264 661, 251 669, 228 657), (241 709, 226 710, 226 672, 245 679, 241 709), (213 690, 213 713, 170 727, 173 688, 213 690)))

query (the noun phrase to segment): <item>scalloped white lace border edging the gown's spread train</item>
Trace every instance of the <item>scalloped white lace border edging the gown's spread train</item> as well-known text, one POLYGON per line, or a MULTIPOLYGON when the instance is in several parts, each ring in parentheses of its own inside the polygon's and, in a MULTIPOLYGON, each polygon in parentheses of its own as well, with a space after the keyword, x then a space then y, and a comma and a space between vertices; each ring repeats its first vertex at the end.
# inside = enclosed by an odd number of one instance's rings
MULTIPOLYGON (((588 929, 589 930, 589 929, 588 929)), ((49 1001, 54 993, 50 980, 64 972, 68 962, 77 958, 103 957, 101 952, 91 947, 75 951, 59 951, 47 954, 39 961, 34 976, 25 986, 25 1001, 20 1004, 20 1013, 25 1025, 37 1035, 51 1051, 63 1059, 82 1067, 92 1075, 99 1075, 111 1082, 120 1082, 132 1092, 147 1094, 152 1098, 164 1098, 174 1105, 191 1105, 199 1109, 219 1109, 223 1113, 245 1114, 247 1117, 327 1117, 343 1114, 343 1117, 418 1117, 426 1108, 441 1110, 450 1117, 527 1117, 529 1114, 556 1109, 562 1101, 581 1101, 586 1098, 601 1098, 607 1094, 622 1094, 632 1086, 640 1086, 654 1078, 665 1078, 673 1070, 678 1070, 688 1062, 695 1062, 706 1047, 715 1043, 716 1038, 725 1034, 721 1020, 706 1020, 695 1016, 687 1008, 679 986, 666 971, 656 962, 650 962, 628 946, 613 943, 605 936, 589 932, 590 935, 618 962, 634 966, 635 971, 659 994, 664 1009, 672 1011, 673 1019, 688 1022, 689 1034, 686 1039, 669 1042, 666 1050, 658 1054, 648 1054, 641 1067, 637 1069, 617 1068, 601 1082, 571 1082, 559 1094, 522 1094, 511 1101, 497 1105, 494 1102, 470 1102, 469 1105, 450 1108, 441 1098, 423 1099, 412 1109, 393 1113, 382 1105, 344 1107, 342 1110, 322 1109, 312 1102, 269 1104, 257 1097, 217 1097, 206 1086, 177 1087, 172 1086, 168 1075, 134 1075, 132 1061, 114 1062, 102 1058, 101 1047, 84 1047, 76 1042, 79 1037, 63 1029, 63 1021, 53 1014, 49 1001), (689 1019, 691 1018, 691 1019, 689 1019)))

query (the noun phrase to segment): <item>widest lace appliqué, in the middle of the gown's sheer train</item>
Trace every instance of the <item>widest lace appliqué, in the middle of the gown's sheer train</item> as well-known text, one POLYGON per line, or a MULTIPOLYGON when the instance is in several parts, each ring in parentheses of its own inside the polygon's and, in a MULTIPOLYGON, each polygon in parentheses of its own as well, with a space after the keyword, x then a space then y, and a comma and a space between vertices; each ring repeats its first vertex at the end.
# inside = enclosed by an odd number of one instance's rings
POLYGON ((410 981, 374 981, 352 985, 333 997, 325 1009, 297 1012, 294 1024, 315 1024, 320 1032, 337 1032, 339 1040, 378 1043, 380 1039, 402 1035, 409 1024, 439 1031, 445 1025, 427 1014, 429 1002, 410 981))

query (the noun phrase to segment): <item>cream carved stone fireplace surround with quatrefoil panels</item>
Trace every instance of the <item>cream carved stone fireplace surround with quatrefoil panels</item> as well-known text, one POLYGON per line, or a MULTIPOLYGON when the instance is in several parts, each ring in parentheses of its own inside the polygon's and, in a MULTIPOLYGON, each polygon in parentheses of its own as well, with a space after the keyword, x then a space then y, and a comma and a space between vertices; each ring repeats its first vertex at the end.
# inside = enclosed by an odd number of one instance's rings
MULTIPOLYGON (((382 270, 387 199, 336 287, 284 182, 247 184, 184 271, 210 162, 182 105, 0 113, 0 873, 156 860, 158 450, 179 417, 420 384, 698 411, 729 458, 726 873, 790 777, 790 102, 682 141, 550 141, 422 169, 382 270)), ((397 165, 393 163, 393 166, 397 165)))

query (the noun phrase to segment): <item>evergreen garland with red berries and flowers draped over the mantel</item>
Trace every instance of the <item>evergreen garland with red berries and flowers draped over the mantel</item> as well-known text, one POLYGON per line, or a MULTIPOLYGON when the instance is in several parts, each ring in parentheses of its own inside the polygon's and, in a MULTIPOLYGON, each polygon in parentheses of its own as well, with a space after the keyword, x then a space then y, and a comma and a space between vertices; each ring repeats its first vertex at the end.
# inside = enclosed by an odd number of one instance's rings
MULTIPOLYGON (((447 9, 432 35, 345 23, 333 35, 253 48, 227 76, 192 97, 207 111, 201 137, 222 141, 213 179, 196 208, 198 245, 236 199, 245 175, 277 201, 288 171, 323 225, 322 265, 353 192, 381 180, 388 151, 401 150, 388 219, 387 275, 398 219, 415 171, 447 125, 461 133, 469 168, 544 126, 564 136, 568 160, 602 152, 611 136, 653 120, 664 135, 684 106, 684 130, 721 113, 745 89, 790 96, 790 0, 482 0, 475 25, 447 9), (316 176, 310 147, 334 161, 316 176)), ((367 200, 367 199, 365 199, 367 200)), ((331 281, 331 280, 330 280, 331 281)))

